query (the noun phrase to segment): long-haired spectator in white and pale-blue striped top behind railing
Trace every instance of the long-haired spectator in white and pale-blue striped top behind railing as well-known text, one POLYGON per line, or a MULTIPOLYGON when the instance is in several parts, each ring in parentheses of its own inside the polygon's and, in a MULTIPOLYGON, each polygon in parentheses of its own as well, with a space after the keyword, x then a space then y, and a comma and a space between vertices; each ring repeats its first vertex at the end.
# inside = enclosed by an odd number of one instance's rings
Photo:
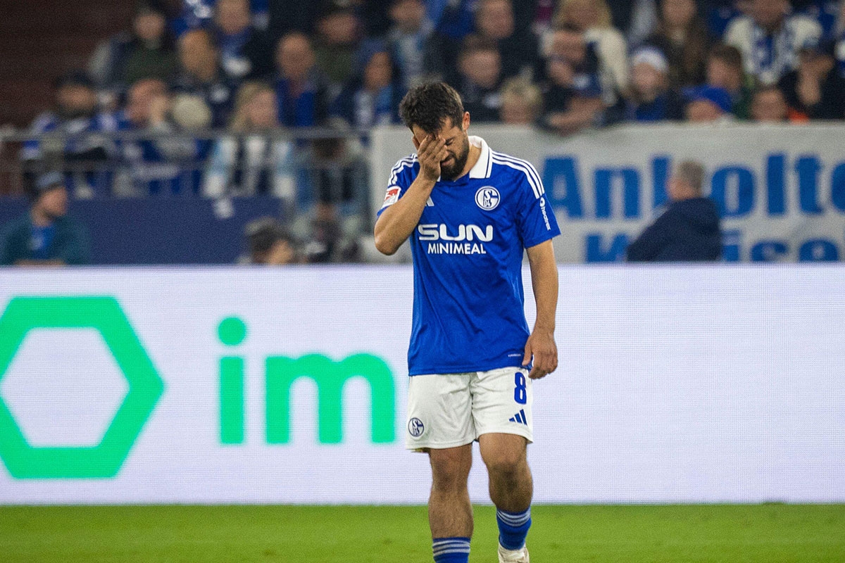
POLYGON ((278 108, 269 84, 251 82, 241 87, 229 131, 232 135, 217 141, 211 151, 203 195, 267 195, 292 203, 296 196, 294 146, 278 137, 278 108))

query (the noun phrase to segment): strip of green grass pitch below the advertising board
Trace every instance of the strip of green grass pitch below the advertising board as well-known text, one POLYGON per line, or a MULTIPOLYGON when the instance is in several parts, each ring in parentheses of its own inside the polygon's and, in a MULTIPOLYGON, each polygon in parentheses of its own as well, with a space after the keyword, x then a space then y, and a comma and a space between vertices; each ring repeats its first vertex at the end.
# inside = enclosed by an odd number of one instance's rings
MULTIPOLYGON (((472 563, 496 561, 475 508, 472 563)), ((845 505, 535 506, 534 563, 842 563, 845 505)), ((425 563, 425 507, 0 507, 3 563, 425 563)))

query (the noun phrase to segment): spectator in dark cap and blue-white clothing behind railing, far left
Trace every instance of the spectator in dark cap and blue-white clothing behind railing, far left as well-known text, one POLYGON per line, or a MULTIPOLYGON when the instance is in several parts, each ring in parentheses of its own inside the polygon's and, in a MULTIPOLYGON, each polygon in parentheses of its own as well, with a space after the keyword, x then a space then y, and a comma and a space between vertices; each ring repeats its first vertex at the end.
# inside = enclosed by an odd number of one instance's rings
POLYGON ((101 165, 113 156, 114 143, 97 133, 113 133, 117 120, 98 111, 94 82, 87 74, 68 73, 55 87, 55 109, 35 118, 30 128, 33 138, 21 151, 26 177, 32 181, 36 171, 60 169, 65 186, 75 197, 91 198, 96 192, 106 192, 110 177, 101 165), (42 143, 45 133, 63 138, 42 143))

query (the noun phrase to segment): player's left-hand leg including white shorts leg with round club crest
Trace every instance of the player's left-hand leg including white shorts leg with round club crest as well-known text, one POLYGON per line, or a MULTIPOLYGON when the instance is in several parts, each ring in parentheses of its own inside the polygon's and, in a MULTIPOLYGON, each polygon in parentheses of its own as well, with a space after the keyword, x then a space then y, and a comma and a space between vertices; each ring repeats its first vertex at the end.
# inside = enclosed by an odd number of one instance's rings
POLYGON ((408 386, 408 449, 428 452, 432 470, 428 522, 437 563, 466 563, 472 505, 466 479, 472 466, 470 374, 412 376, 408 386))

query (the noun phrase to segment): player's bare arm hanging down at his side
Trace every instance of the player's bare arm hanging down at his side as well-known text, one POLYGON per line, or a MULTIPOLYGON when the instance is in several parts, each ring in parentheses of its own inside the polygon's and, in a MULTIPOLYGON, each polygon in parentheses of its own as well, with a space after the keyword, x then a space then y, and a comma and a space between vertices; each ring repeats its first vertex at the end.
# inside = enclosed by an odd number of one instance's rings
POLYGON ((526 342, 522 365, 534 358, 528 374, 532 379, 548 376, 558 369, 558 346, 554 344, 554 315, 558 307, 558 264, 554 260, 552 241, 544 241, 526 249, 531 267, 534 299, 537 301, 537 321, 526 342))

